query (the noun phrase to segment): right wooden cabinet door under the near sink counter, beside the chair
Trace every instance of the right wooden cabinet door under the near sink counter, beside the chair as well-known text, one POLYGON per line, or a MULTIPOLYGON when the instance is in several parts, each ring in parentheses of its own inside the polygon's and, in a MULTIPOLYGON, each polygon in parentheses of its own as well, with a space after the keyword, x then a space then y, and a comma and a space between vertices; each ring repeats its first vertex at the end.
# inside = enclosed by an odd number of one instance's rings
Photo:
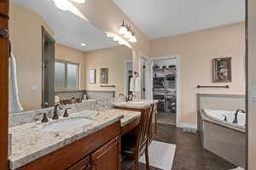
POLYGON ((91 155, 92 170, 120 170, 120 137, 116 137, 108 144, 91 155))

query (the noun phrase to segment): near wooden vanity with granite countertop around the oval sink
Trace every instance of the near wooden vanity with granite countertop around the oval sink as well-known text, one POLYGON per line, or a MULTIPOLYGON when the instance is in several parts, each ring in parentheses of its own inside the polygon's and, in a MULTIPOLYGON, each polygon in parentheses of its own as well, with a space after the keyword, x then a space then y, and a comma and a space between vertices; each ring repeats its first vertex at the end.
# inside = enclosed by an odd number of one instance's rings
POLYGON ((80 111, 47 123, 32 122, 10 128, 12 155, 10 169, 120 169, 122 128, 139 120, 140 112, 107 110, 80 111), (48 129, 52 123, 86 117, 82 127, 63 131, 48 129))

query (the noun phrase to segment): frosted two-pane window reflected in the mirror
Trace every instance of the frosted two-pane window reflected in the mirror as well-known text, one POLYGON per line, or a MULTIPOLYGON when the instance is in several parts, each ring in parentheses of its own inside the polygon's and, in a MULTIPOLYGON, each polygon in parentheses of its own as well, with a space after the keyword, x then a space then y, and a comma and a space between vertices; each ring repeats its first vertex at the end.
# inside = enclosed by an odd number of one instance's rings
POLYGON ((79 88, 79 64, 55 61, 55 89, 79 88))

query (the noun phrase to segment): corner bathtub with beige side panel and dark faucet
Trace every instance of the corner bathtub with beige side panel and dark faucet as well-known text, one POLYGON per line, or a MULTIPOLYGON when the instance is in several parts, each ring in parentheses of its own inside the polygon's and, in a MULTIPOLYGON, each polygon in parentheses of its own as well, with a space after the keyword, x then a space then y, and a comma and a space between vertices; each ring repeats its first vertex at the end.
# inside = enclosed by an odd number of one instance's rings
POLYGON ((202 109, 200 111, 201 139, 204 149, 226 161, 245 167, 246 114, 238 113, 238 123, 233 123, 236 111, 202 109), (224 116, 227 121, 224 121, 224 116))

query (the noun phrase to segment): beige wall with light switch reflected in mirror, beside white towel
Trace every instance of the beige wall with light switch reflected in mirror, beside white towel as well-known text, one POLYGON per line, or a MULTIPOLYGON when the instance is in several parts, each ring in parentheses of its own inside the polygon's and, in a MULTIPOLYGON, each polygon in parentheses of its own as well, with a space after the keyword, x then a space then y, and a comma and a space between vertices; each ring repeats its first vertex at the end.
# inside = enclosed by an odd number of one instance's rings
POLYGON ((26 111, 40 108, 42 99, 42 33, 44 26, 54 36, 44 19, 26 8, 10 3, 10 40, 17 60, 20 102, 26 111), (33 92, 32 85, 38 90, 33 92))

